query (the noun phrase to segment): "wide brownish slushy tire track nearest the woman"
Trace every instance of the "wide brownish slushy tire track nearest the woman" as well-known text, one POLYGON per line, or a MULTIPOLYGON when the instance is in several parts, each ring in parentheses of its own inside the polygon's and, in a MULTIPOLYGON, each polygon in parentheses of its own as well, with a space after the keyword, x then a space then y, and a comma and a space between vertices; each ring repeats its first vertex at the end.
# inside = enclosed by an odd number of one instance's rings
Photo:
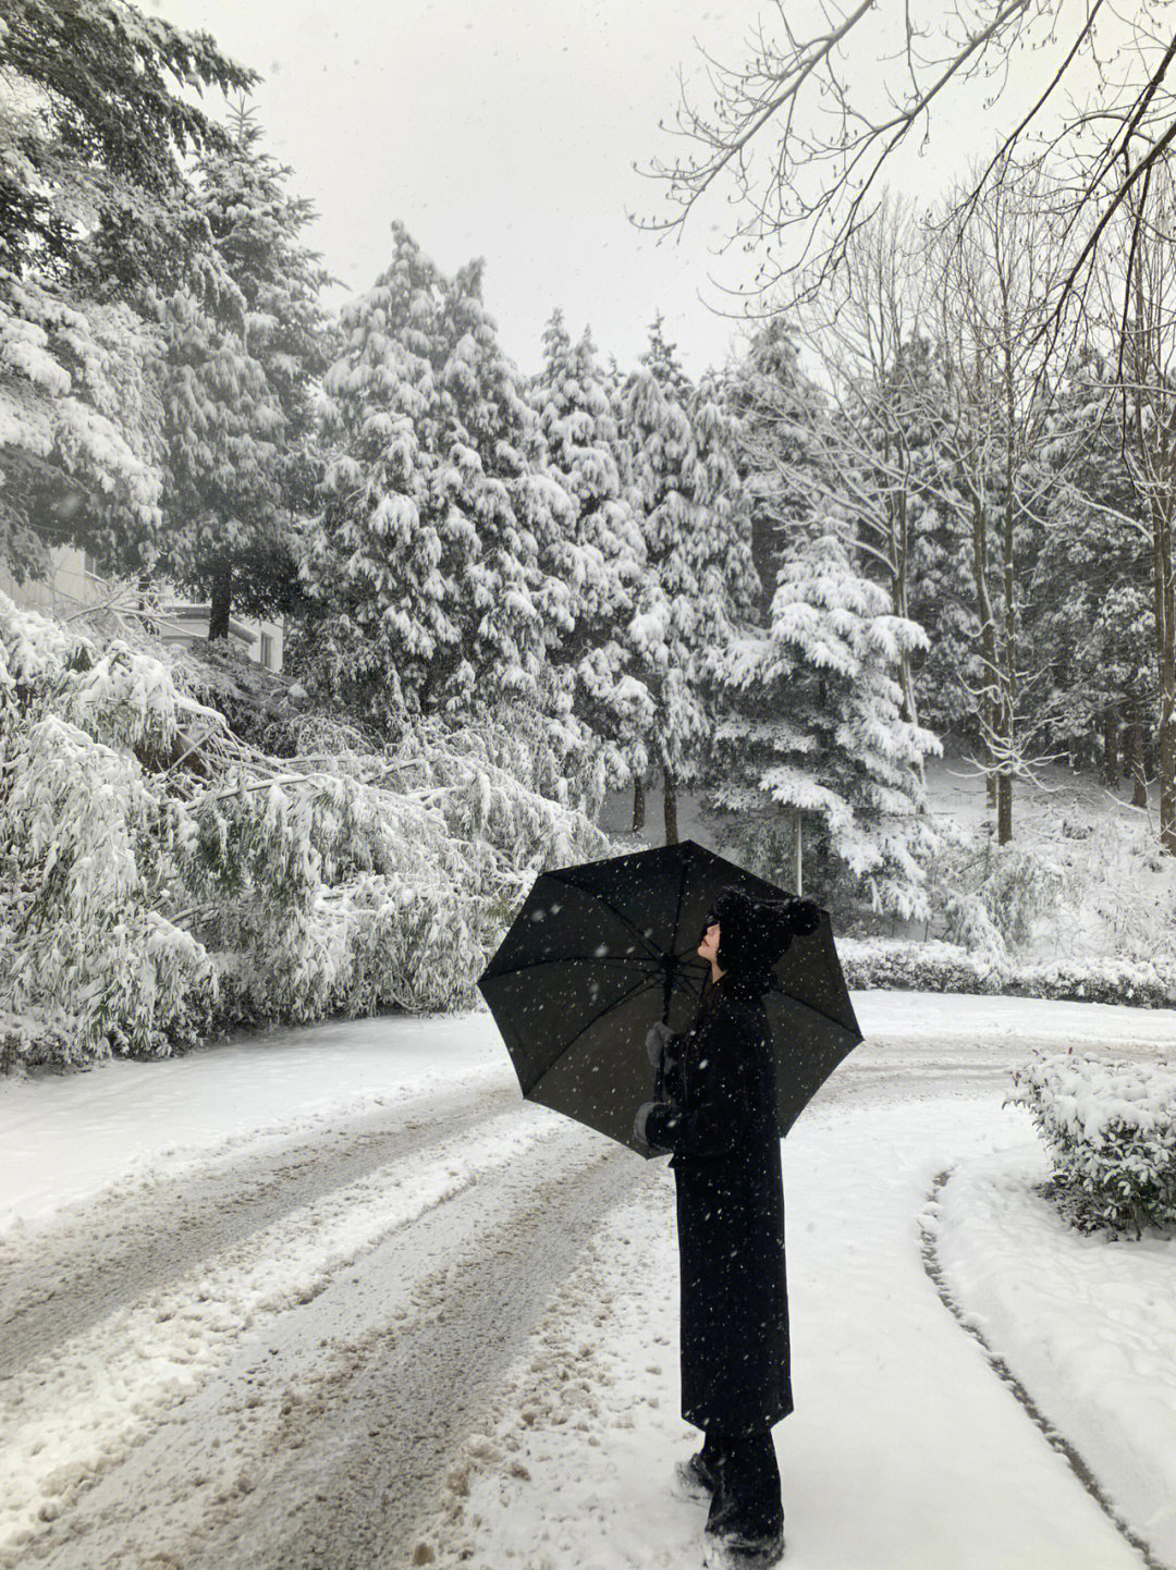
POLYGON ((245 1336, 20 1565, 407 1565, 532 1324, 647 1176, 628 1151, 546 1130, 245 1336))

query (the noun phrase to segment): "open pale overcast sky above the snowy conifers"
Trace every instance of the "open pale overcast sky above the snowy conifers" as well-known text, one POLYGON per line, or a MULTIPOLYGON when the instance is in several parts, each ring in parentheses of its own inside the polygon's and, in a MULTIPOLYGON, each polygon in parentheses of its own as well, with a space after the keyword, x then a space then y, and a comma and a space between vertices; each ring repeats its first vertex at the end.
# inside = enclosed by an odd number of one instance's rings
MULTIPOLYGON (((630 369, 653 312, 666 316, 686 371, 721 364, 736 311, 721 289, 754 259, 719 242, 714 198, 681 240, 656 243, 626 209, 669 215, 664 185, 634 173, 691 144, 658 130, 696 78, 692 39, 740 64, 766 0, 140 0, 182 28, 204 28, 261 71, 254 94, 267 146, 294 166, 292 188, 319 210, 311 243, 347 294, 372 286, 400 218, 452 273, 485 256, 484 294, 507 353, 539 367, 543 323, 562 306, 573 338, 590 323, 606 358, 630 369)), ((812 11, 790 0, 788 16, 812 11)), ((1039 57, 1036 57, 1039 60, 1039 57)), ((897 181, 933 190, 988 149, 975 105, 940 121, 897 181), (951 124, 955 119, 955 124, 951 124)), ((339 290, 342 297, 342 290, 339 290)))

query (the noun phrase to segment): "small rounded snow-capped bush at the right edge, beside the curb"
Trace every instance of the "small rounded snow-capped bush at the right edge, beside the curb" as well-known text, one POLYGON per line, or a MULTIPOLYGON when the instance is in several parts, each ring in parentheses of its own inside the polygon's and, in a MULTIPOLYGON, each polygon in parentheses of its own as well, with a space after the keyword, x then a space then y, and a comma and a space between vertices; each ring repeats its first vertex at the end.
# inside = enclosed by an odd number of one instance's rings
POLYGON ((1176 1225, 1176 1068, 1035 1055, 1010 1097, 1054 1160, 1050 1192, 1080 1231, 1176 1225))

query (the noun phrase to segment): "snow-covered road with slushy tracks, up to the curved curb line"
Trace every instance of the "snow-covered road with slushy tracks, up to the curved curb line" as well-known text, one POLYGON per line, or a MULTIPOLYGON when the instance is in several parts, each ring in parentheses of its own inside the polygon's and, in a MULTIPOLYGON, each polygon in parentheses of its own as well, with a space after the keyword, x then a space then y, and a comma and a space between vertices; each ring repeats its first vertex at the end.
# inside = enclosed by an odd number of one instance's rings
MULTIPOLYGON (((1140 1565, 944 1309, 920 1226, 939 1171, 1028 1148, 1002 1110, 1027 1046, 1148 1057, 1173 1020, 856 1005, 867 1044, 785 1143, 790 1559, 1140 1565)), ((485 1016, 2 1090, 0 1562, 699 1562, 666 1496, 692 1438, 670 1174, 523 1105, 485 1016)), ((944 1245, 962 1280, 958 1218, 944 1245)))

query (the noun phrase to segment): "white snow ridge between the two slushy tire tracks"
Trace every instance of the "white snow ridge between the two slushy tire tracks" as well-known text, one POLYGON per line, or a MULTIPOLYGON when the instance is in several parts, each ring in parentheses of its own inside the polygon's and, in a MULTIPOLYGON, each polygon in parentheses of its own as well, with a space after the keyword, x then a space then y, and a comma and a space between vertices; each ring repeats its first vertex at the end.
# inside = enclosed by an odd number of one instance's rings
POLYGON ((250 1232, 193 1275, 118 1308, 0 1385, 0 1565, 199 1391, 254 1325, 311 1303, 389 1234, 551 1145, 523 1105, 250 1232))

